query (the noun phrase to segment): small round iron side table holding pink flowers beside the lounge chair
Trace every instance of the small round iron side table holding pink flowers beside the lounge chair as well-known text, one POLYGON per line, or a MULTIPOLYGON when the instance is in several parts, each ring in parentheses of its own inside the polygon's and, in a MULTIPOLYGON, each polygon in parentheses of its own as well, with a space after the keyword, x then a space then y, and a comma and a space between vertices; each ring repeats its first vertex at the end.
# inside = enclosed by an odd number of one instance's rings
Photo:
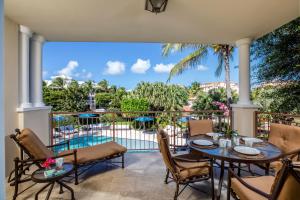
POLYGON ((60 194, 63 193, 62 188, 64 187, 64 188, 66 188, 67 190, 69 190, 71 192, 71 199, 75 200, 73 189, 70 186, 68 186, 68 185, 66 185, 65 183, 62 182, 63 178, 65 178, 65 177, 71 175, 72 173, 74 173, 74 167, 71 164, 64 164, 63 168, 64 168, 64 171, 61 174, 53 175, 51 177, 45 177, 44 176, 44 171, 45 171, 44 169, 38 169, 38 170, 36 170, 35 172, 32 173, 31 179, 32 179, 33 182, 47 183, 45 186, 43 186, 36 193, 35 200, 38 200, 39 194, 50 186, 50 188, 48 190, 48 193, 47 193, 47 196, 46 196, 46 199, 48 200, 50 195, 51 195, 51 192, 53 190, 53 187, 54 187, 55 183, 58 183, 59 186, 60 186, 60 191, 59 191, 60 194))

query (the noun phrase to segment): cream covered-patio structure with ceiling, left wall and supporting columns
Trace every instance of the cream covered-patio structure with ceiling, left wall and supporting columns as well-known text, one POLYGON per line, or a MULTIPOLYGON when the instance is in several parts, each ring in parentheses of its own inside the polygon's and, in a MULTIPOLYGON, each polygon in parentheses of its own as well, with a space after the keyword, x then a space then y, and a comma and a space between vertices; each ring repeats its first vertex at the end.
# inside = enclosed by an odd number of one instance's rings
MULTIPOLYGON (((157 15, 144 10, 144 0, 5 0, 4 12, 0 3, 4 35, 0 53, 5 55, 0 67, 3 161, 16 152, 7 139, 16 127, 31 127, 48 141, 51 108, 42 99, 45 41, 235 44, 240 98, 233 105, 234 126, 252 135, 257 106, 250 101, 251 41, 300 14, 299 0, 169 0, 166 11, 157 15)), ((0 164, 2 180, 5 168, 10 168, 8 161, 0 164)), ((0 199, 5 199, 3 182, 0 199)))

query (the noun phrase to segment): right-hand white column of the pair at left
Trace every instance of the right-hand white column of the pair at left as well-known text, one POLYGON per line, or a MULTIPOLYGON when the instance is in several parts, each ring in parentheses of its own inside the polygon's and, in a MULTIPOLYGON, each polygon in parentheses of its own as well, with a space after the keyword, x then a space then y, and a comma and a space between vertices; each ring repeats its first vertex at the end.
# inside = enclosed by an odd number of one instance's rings
POLYGON ((34 107, 45 106, 43 102, 43 68, 42 48, 45 39, 41 35, 34 34, 31 38, 30 51, 30 91, 31 101, 34 107))

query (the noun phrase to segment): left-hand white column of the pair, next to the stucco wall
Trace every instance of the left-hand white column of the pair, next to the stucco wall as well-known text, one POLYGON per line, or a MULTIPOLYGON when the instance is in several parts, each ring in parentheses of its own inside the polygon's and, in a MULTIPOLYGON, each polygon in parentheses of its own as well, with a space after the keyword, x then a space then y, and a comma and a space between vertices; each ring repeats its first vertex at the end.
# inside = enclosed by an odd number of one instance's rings
POLYGON ((19 66, 20 66, 20 107, 30 108, 29 99, 29 39, 32 32, 26 26, 20 25, 19 29, 19 66))

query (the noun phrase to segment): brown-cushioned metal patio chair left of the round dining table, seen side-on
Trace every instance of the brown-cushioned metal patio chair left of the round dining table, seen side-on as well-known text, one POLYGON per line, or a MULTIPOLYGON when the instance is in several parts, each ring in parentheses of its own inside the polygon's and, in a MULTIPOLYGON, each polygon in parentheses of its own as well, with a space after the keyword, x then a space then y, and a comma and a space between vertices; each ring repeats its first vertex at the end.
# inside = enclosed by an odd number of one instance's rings
POLYGON ((167 179, 169 173, 171 173, 172 179, 176 182, 174 200, 178 198, 187 186, 197 189, 192 186, 191 183, 208 179, 211 179, 211 193, 212 199, 214 199, 213 161, 211 159, 192 161, 189 159, 176 159, 172 157, 168 145, 169 136, 161 129, 157 132, 157 140, 164 163, 168 170, 165 183, 168 183, 167 179), (184 187, 179 191, 180 185, 183 185, 184 187))

